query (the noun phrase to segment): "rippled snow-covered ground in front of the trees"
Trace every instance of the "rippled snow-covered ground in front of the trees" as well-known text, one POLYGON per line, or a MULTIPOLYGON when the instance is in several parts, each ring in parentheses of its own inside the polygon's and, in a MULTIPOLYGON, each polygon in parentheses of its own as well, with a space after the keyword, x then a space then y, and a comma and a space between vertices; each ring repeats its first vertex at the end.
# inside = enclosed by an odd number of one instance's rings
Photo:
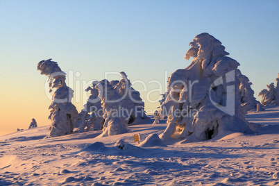
POLYGON ((279 185, 279 108, 247 119, 273 125, 256 135, 153 147, 133 142, 133 134, 143 141, 166 128, 151 119, 101 138, 89 132, 43 139, 48 126, 22 130, 0 137, 0 185, 279 185), (114 146, 121 139, 130 145, 114 146))

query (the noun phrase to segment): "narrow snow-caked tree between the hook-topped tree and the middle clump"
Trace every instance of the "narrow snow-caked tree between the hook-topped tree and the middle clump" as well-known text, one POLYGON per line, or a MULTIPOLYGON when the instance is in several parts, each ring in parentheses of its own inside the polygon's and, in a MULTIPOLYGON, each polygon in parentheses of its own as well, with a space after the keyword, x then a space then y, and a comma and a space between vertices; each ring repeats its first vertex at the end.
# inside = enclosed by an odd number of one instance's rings
POLYGON ((87 87, 85 90, 86 92, 90 91, 90 97, 76 118, 76 126, 78 126, 79 133, 103 128, 103 108, 99 98, 98 86, 96 86, 98 83, 98 81, 94 81, 92 87, 87 87))

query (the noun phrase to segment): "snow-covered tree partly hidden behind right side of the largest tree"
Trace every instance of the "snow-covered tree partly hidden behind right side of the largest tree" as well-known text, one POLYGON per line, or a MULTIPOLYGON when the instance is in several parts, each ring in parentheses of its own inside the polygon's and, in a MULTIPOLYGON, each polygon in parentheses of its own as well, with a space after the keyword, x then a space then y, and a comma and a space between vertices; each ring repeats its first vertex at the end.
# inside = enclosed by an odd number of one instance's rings
POLYGON ((240 99, 242 104, 242 110, 245 112, 245 114, 252 109, 264 110, 260 101, 257 101, 254 97, 255 92, 251 88, 252 83, 249 81, 248 77, 241 74, 240 71, 237 77, 240 81, 240 99))

